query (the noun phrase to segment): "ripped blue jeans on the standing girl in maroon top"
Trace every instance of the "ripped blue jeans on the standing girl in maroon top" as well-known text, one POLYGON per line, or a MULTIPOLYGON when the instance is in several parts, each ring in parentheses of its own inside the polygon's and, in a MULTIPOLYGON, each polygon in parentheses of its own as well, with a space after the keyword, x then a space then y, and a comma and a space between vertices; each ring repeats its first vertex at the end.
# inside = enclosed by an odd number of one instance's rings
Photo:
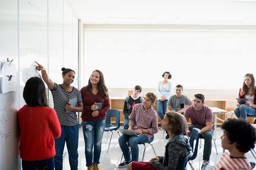
POLYGON ((100 163, 101 142, 105 126, 106 119, 82 122, 84 145, 86 147, 84 151, 86 153, 86 166, 100 163))

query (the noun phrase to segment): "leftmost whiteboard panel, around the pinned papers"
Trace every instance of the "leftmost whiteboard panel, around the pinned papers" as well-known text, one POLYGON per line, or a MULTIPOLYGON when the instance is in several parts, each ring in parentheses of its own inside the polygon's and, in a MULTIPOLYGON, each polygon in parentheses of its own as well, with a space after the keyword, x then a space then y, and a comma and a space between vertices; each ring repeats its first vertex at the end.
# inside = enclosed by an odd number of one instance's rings
MULTIPOLYGON (((1 1, 0 60, 18 64, 18 1, 1 1)), ((15 72, 18 72, 16 67, 15 72)), ((18 83, 16 89, 18 89, 18 83)), ((0 93, 0 169, 19 169, 17 108, 19 91, 0 93)))

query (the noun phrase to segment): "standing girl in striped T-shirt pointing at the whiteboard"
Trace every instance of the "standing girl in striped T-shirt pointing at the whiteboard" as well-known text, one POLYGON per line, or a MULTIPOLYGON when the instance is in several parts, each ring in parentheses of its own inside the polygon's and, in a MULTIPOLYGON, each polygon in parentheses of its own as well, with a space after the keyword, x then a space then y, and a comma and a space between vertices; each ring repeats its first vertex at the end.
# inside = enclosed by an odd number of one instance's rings
MULTIPOLYGON (((36 64, 38 64, 36 62, 36 64)), ((63 83, 54 83, 47 75, 45 68, 38 64, 37 70, 41 70, 42 78, 51 90, 54 109, 61 125, 61 136, 55 138, 55 170, 62 169, 63 150, 66 142, 70 169, 78 169, 78 119, 76 112, 82 111, 82 98, 80 91, 71 86, 75 72, 62 68, 63 83)))

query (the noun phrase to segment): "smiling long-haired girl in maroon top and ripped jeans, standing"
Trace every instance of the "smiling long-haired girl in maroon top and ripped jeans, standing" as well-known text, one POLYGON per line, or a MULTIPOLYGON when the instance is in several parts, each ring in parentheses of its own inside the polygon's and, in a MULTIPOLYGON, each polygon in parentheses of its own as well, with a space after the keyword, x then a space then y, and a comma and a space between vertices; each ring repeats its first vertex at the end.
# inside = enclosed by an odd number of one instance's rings
POLYGON ((110 108, 108 88, 105 86, 103 73, 100 70, 95 70, 88 81, 88 85, 82 87, 80 92, 83 103, 81 118, 86 146, 86 166, 88 169, 97 170, 100 163, 106 112, 110 108), (95 103, 102 103, 102 108, 98 108, 95 103))

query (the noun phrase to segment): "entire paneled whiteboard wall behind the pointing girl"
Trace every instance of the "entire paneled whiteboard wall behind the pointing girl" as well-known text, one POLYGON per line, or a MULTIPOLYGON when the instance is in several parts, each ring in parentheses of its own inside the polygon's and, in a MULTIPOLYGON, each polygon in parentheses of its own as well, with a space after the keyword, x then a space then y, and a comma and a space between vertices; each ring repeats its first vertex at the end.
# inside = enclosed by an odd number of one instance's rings
MULTIPOLYGON (((4 1, 0 14, 5 14, 0 15, 0 60, 14 59, 17 73, 15 91, 0 93, 0 169, 18 170, 22 168, 17 111, 26 104, 25 83, 37 75, 34 61, 42 64, 58 84, 63 81, 62 67, 78 75, 78 36, 74 34, 78 33, 78 19, 63 0, 4 1)), ((72 85, 77 84, 75 81, 72 85)), ((47 94, 53 107, 52 95, 49 91, 47 94)))

